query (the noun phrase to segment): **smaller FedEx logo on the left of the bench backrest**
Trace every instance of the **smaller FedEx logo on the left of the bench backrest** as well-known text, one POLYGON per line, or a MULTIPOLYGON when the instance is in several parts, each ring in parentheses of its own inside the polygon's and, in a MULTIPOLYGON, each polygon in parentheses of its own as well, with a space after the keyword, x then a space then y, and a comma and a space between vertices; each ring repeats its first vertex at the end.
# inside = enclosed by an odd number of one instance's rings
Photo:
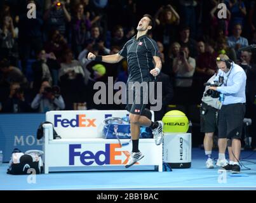
POLYGON ((86 119, 85 114, 76 115, 75 119, 62 119, 62 115, 57 114, 54 115, 54 127, 58 127, 60 124, 62 127, 67 128, 76 128, 76 127, 96 127, 95 121, 96 119, 86 119))

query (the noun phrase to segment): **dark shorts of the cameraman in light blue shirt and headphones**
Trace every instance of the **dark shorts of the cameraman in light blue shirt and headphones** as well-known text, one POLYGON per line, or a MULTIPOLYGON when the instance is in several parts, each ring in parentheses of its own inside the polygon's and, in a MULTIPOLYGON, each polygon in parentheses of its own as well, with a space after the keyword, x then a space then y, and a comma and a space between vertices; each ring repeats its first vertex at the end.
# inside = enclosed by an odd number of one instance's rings
POLYGON ((245 103, 222 105, 219 111, 219 138, 241 139, 245 103))

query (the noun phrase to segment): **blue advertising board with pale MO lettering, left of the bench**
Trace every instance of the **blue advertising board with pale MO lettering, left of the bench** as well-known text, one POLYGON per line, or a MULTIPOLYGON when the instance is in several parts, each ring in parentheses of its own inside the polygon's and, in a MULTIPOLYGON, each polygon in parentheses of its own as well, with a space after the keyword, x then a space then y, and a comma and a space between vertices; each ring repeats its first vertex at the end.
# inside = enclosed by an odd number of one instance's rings
POLYGON ((3 161, 9 162, 14 148, 22 152, 42 150, 43 139, 36 139, 36 131, 45 114, 0 114, 0 150, 3 161))

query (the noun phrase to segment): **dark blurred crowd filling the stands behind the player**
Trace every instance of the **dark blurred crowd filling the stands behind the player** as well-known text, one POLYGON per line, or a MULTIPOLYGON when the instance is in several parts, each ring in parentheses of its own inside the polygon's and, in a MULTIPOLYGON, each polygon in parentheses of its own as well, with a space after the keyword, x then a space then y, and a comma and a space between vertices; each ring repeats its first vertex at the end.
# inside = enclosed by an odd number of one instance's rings
POLYGON ((203 83, 222 53, 245 69, 246 114, 255 117, 255 51, 238 49, 256 43, 256 1, 5 0, 0 10, 0 112, 125 108, 95 105, 93 84, 107 84, 110 76, 126 82, 126 61, 86 57, 118 53, 149 13, 156 22, 149 35, 161 52, 161 77, 173 87, 163 108, 201 103, 203 83), (36 4, 36 18, 27 18, 29 3, 36 4), (218 18, 220 3, 226 4, 226 18, 218 18))

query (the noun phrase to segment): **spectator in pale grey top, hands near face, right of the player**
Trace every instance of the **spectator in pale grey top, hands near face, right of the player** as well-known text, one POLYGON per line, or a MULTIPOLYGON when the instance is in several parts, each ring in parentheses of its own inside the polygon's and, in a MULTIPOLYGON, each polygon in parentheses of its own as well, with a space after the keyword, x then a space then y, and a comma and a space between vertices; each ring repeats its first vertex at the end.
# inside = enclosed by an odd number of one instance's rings
POLYGON ((173 60, 173 72, 175 73, 175 86, 191 87, 192 76, 196 68, 196 60, 189 56, 189 48, 180 48, 179 55, 173 60), (179 77, 182 77, 182 79, 179 77))

